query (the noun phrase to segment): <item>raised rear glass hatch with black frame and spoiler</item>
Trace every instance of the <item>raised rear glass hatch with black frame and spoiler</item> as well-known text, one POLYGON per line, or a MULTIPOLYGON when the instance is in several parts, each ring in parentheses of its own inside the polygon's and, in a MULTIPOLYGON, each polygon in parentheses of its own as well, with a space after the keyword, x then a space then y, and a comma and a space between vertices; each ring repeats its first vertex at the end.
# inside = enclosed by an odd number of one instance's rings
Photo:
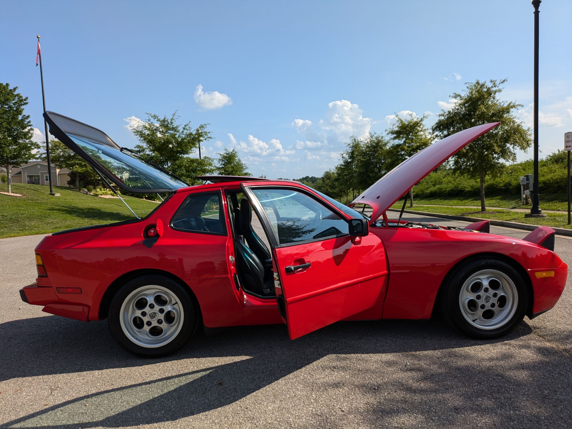
POLYGON ((101 175, 131 193, 165 193, 189 186, 156 165, 134 158, 107 134, 58 113, 43 113, 53 134, 101 175))

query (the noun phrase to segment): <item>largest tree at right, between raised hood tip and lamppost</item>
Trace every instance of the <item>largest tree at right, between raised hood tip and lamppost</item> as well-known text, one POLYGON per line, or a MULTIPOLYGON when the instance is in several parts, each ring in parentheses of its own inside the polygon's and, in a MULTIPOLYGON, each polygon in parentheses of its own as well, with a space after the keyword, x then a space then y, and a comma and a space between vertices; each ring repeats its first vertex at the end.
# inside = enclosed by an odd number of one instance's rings
POLYGON ((472 126, 500 122, 500 125, 461 149, 452 159, 455 171, 479 177, 481 211, 486 210, 486 175, 498 175, 505 167, 505 161, 514 162, 517 159, 517 149, 526 150, 531 145, 530 129, 525 129, 513 114, 514 110, 523 106, 498 98, 506 81, 491 79, 487 83, 477 79, 467 83, 463 94, 450 96, 457 102, 451 110, 442 110, 433 126, 433 131, 443 138, 472 126))

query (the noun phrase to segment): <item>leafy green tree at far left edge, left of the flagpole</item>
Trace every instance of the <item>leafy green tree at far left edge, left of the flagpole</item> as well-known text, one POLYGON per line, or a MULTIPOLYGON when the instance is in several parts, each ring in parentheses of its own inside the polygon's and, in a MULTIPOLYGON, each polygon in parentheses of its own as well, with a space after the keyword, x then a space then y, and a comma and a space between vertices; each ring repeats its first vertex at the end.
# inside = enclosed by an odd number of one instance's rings
POLYGON ((30 115, 24 114, 28 98, 10 88, 9 83, 0 83, 0 165, 6 167, 8 193, 12 193, 10 169, 13 165, 34 159, 34 150, 39 144, 32 141, 34 131, 30 115))

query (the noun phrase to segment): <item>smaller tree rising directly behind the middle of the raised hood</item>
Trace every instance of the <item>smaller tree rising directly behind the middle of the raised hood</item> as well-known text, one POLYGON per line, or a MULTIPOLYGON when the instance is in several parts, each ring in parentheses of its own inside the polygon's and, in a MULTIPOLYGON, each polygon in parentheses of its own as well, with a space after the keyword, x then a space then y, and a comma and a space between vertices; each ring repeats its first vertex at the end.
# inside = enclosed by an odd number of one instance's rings
MULTIPOLYGON (((433 141, 431 132, 424 125, 427 115, 419 117, 409 113, 409 118, 396 115, 395 119, 396 121, 386 131, 392 143, 388 151, 387 171, 425 149, 433 141)), ((413 207, 413 188, 410 190, 409 206, 413 207)))

